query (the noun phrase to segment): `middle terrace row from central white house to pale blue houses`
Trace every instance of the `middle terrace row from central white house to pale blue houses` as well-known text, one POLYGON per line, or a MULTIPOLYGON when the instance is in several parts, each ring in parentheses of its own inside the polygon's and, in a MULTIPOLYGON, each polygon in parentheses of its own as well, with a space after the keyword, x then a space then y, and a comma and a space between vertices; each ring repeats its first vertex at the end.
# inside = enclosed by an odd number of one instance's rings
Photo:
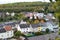
POLYGON ((23 21, 21 21, 20 24, 16 25, 16 28, 22 33, 46 31, 47 28, 50 31, 58 31, 58 25, 54 24, 51 21, 38 24, 27 24, 26 22, 23 23, 23 21))

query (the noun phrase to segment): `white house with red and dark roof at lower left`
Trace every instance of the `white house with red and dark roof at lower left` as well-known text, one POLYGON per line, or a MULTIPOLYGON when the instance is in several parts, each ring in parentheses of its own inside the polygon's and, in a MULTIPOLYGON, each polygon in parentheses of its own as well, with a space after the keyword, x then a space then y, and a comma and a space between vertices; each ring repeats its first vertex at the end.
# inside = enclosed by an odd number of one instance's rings
POLYGON ((0 29, 0 39, 7 39, 13 37, 13 30, 11 26, 5 26, 0 29))

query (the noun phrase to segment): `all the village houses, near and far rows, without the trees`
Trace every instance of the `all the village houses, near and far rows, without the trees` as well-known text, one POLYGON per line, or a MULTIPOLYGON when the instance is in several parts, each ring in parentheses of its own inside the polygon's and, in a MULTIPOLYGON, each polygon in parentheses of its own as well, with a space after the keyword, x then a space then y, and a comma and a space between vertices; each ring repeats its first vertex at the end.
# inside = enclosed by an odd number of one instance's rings
MULTIPOLYGON (((14 15, 14 13, 13 13, 13 15, 14 15)), ((46 31, 47 28, 50 31, 54 31, 54 32, 58 31, 58 25, 52 21, 52 19, 55 20, 55 17, 51 13, 48 13, 47 15, 45 15, 44 13, 26 13, 25 16, 29 17, 30 19, 32 19, 33 16, 35 19, 37 17, 39 19, 44 18, 46 20, 46 22, 40 22, 37 24, 27 24, 26 21, 21 20, 20 22, 2 23, 2 24, 0 24, 0 39, 6 39, 6 38, 13 37, 14 29, 21 31, 24 34, 31 33, 31 32, 46 31)))

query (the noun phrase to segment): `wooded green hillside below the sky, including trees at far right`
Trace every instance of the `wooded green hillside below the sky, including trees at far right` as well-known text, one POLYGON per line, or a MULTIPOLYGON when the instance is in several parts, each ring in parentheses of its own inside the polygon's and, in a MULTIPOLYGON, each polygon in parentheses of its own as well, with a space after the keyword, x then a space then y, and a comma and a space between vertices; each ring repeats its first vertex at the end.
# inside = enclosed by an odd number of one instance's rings
POLYGON ((60 11, 60 1, 56 0, 53 2, 20 2, 20 3, 9 3, 0 4, 0 12, 50 12, 50 11, 60 11), (44 9, 44 10, 42 10, 44 9))

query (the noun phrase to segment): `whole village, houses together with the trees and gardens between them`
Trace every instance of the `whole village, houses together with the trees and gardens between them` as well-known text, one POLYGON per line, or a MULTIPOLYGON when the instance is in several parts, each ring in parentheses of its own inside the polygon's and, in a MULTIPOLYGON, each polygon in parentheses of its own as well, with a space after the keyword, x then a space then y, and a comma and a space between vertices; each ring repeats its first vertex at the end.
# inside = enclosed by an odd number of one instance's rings
MULTIPOLYGON (((9 16, 9 12, 6 12, 9 16)), ((12 13, 14 16, 15 13, 12 13)), ((23 12, 25 17, 21 21, 8 21, 0 23, 0 39, 9 39, 11 37, 26 37, 45 35, 58 32, 58 23, 52 13, 23 12), (27 19, 27 20, 26 20, 27 19)))

